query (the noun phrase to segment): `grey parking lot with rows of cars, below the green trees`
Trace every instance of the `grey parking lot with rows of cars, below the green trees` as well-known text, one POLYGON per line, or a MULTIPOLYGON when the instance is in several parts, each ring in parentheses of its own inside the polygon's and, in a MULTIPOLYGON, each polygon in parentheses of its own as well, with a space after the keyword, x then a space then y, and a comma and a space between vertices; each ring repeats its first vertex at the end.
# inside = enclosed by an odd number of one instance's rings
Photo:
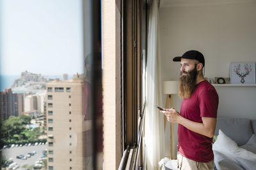
POLYGON ((19 164, 19 170, 25 170, 22 168, 24 164, 28 164, 29 166, 34 165, 37 160, 41 158, 43 150, 47 148, 47 145, 40 146, 22 146, 22 147, 14 147, 14 148, 5 148, 2 150, 2 155, 6 157, 6 159, 12 158, 13 162, 19 164), (31 156, 26 160, 17 159, 17 155, 28 155, 29 152, 35 151, 36 154, 31 156))

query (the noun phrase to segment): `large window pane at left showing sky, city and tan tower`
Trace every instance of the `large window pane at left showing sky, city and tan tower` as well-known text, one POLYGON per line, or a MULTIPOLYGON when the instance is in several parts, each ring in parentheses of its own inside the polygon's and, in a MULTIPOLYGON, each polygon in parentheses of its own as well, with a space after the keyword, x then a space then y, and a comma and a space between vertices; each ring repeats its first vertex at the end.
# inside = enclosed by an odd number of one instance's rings
MULTIPOLYGON (((90 31, 93 29, 87 28, 93 24, 86 24, 85 19, 92 22, 93 16, 92 10, 86 9, 88 5, 83 4, 92 2, 0 1, 0 149, 3 159, 35 150, 31 155, 34 154, 35 160, 45 159, 45 169, 92 169, 93 154, 102 157, 100 127, 97 127, 99 133, 95 133, 99 137, 95 142, 97 150, 92 150, 93 113, 102 120, 102 88, 101 84, 93 83, 92 76, 93 71, 100 72, 97 78, 101 80, 102 67, 93 67, 94 54, 90 55, 90 31), (92 92, 92 87, 99 92, 92 92), (93 96, 97 98, 95 106, 93 96), (14 128, 16 130, 12 131, 14 128), (22 146, 16 147, 16 144, 22 146), (26 152, 20 153, 20 150, 26 152), (45 150, 51 157, 42 154, 45 150), (71 150, 81 152, 70 153, 71 150)), ((100 16, 100 4, 98 7, 100 16)), ((100 54, 100 41, 97 44, 100 54)), ((99 61, 101 63, 101 55, 99 61)), ((19 166, 21 169, 28 165, 24 169, 31 169, 34 164, 33 159, 26 159, 19 166)), ((102 162, 100 164, 102 166, 102 162)))

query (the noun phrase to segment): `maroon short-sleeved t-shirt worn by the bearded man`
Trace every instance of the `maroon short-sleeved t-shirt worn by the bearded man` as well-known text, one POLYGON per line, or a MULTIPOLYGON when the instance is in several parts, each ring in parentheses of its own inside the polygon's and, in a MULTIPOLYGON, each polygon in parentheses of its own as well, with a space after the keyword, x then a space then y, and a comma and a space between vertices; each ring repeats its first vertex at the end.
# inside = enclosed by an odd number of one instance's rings
MULTIPOLYGON (((195 92, 188 99, 183 99, 180 115, 193 122, 202 123, 202 117, 217 117, 219 96, 207 81, 196 85, 195 92)), ((190 131, 183 125, 178 127, 178 151, 184 157, 196 162, 209 162, 214 159, 212 138, 190 131)))

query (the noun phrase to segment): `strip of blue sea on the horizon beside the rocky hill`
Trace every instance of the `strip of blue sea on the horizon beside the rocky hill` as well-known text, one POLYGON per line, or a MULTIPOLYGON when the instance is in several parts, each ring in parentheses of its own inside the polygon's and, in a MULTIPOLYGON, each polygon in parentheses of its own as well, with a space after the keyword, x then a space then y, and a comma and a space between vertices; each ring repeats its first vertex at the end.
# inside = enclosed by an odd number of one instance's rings
MULTIPOLYGON (((47 75, 48 78, 60 78, 62 79, 62 75, 47 75)), ((12 86, 13 81, 20 78, 20 75, 1 75, 0 74, 0 91, 3 92, 4 89, 10 88, 12 86)), ((70 79, 70 75, 68 75, 70 79)))

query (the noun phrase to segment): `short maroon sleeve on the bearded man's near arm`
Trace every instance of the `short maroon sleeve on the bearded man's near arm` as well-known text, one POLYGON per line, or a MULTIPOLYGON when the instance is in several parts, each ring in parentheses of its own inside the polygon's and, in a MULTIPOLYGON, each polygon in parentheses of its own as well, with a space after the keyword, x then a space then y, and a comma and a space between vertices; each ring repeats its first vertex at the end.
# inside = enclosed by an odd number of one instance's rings
POLYGON ((214 89, 207 89, 199 96, 200 117, 217 117, 219 96, 214 89))

